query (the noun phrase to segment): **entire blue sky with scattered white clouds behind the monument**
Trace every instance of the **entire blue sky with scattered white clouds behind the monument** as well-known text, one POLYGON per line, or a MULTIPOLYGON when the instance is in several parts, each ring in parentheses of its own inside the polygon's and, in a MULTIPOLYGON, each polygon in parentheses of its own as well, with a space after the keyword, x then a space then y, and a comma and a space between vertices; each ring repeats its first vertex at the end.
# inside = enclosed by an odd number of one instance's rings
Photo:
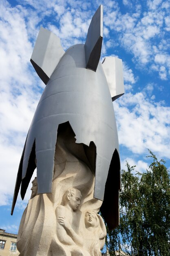
POLYGON ((64 50, 84 43, 100 4, 101 61, 117 56, 124 65, 125 94, 114 102, 121 168, 127 160, 138 171, 146 170, 149 148, 170 169, 170 0, 1 0, 0 228, 6 231, 18 232, 31 195, 30 185, 24 201, 19 195, 11 216, 26 134, 45 86, 30 63, 38 31, 52 31, 64 50))

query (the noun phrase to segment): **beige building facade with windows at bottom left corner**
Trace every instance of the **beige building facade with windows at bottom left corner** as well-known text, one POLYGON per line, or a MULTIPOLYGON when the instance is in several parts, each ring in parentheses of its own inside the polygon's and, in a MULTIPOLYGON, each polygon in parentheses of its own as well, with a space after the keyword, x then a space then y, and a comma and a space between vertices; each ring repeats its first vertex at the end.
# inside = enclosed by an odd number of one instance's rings
POLYGON ((18 256, 19 254, 17 250, 17 235, 0 229, 0 256, 18 256))

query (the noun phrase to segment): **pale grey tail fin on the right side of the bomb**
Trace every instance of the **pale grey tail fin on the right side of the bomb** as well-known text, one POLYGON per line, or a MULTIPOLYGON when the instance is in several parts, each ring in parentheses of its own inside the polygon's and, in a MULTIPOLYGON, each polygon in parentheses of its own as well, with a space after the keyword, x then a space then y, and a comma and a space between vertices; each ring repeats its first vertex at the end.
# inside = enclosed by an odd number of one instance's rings
POLYGON ((124 94, 122 61, 116 57, 106 57, 102 63, 102 67, 107 77, 112 100, 115 101, 115 99, 124 94))

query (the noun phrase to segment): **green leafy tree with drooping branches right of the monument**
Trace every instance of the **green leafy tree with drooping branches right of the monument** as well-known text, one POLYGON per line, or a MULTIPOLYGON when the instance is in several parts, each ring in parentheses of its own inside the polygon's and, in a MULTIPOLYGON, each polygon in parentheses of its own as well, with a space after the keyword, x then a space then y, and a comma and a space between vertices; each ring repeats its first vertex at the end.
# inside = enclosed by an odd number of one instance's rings
POLYGON ((164 160, 149 152, 145 173, 128 163, 122 171, 120 225, 106 241, 110 255, 122 249, 131 256, 170 256, 170 175, 164 160))

